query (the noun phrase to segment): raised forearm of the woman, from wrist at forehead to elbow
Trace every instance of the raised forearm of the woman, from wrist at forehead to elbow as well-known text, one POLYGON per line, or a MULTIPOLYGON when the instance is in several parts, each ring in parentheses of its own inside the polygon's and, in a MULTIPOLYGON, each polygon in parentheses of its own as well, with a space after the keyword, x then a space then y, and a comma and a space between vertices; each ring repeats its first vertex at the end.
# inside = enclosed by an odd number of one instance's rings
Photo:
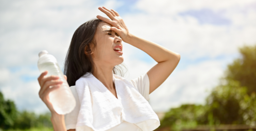
POLYGON ((144 51, 158 63, 167 61, 167 60, 175 60, 175 61, 180 60, 180 55, 178 53, 170 51, 159 44, 139 38, 132 34, 129 35, 129 37, 125 40, 125 42, 144 51))

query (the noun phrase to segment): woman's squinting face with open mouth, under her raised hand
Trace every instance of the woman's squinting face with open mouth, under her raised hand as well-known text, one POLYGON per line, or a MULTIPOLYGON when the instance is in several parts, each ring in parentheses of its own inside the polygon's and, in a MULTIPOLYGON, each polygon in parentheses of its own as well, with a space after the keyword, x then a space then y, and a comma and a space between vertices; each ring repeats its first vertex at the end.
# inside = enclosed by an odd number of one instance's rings
POLYGON ((124 61, 122 39, 110 30, 110 27, 111 25, 105 22, 99 23, 97 27, 96 48, 91 54, 97 66, 114 67, 124 61))

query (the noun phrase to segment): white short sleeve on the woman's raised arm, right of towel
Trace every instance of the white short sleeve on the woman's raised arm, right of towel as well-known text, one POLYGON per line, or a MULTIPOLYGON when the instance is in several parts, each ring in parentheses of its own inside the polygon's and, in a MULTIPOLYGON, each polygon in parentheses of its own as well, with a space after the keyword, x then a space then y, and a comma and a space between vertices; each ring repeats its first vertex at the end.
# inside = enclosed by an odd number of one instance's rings
POLYGON ((150 81, 147 73, 139 76, 136 79, 132 79, 129 81, 134 87, 138 89, 140 94, 146 99, 150 100, 149 97, 149 89, 150 89, 150 81))

